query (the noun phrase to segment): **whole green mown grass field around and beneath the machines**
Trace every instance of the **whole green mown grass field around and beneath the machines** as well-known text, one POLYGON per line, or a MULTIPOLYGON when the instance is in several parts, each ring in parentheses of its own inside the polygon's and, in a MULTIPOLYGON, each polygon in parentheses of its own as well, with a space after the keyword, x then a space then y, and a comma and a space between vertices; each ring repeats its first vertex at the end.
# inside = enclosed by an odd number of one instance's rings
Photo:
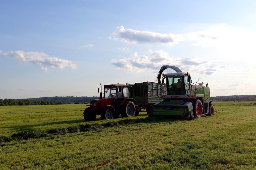
POLYGON ((256 169, 256 102, 216 102, 193 121, 85 122, 85 107, 0 107, 0 169, 256 169), (20 132, 43 135, 5 139, 20 132))

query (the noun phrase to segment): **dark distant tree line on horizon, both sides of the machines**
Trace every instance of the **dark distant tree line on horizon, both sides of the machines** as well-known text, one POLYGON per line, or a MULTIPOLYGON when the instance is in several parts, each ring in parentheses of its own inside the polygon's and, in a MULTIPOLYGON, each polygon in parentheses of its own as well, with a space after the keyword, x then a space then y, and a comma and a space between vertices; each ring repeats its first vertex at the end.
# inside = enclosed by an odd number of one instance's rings
MULTIPOLYGON (((61 105, 89 103, 99 97, 40 97, 31 99, 0 99, 0 106, 24 106, 24 105, 61 105)), ((211 97, 214 101, 256 101, 256 95, 235 95, 211 97)))

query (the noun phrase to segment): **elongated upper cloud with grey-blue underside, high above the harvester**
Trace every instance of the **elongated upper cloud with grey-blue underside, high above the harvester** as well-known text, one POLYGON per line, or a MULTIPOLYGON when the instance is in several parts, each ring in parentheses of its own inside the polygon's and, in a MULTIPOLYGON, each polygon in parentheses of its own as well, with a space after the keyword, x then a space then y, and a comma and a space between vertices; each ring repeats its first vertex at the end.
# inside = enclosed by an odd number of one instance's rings
POLYGON ((163 45, 174 45, 178 42, 191 40, 196 41, 193 45, 202 45, 205 41, 214 41, 218 38, 212 32, 198 31, 186 34, 161 34, 148 31, 138 31, 125 29, 123 26, 117 27, 109 39, 126 43, 160 43, 163 45))

